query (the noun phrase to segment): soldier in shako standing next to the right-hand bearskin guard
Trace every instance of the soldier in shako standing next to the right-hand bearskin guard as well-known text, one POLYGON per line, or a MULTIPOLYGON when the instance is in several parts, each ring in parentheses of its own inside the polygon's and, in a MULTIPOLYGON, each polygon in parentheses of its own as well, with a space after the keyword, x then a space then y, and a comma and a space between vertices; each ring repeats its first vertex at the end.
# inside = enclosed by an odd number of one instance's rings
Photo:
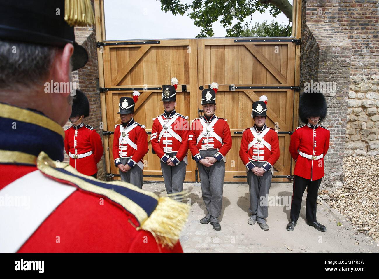
POLYGON ((253 103, 251 117, 255 125, 244 130, 242 134, 240 158, 247 168, 247 183, 250 192, 251 216, 248 224, 258 222, 262 230, 268 230, 268 193, 273 166, 279 159, 279 140, 273 128, 266 126, 267 97, 261 96, 253 103))

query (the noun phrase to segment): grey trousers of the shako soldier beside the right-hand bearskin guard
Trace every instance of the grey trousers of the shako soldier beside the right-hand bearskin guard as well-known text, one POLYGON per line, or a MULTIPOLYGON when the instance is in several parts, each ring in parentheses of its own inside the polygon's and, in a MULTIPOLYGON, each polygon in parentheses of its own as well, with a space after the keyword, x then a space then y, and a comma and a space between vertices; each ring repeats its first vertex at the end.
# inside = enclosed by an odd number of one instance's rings
MULTIPOLYGON (((262 167, 265 162, 254 162, 257 167, 262 167)), ((247 172, 247 183, 250 192, 250 218, 256 219, 258 223, 266 224, 268 216, 268 192, 270 191, 271 170, 265 172, 262 177, 255 175, 251 170, 247 172)))

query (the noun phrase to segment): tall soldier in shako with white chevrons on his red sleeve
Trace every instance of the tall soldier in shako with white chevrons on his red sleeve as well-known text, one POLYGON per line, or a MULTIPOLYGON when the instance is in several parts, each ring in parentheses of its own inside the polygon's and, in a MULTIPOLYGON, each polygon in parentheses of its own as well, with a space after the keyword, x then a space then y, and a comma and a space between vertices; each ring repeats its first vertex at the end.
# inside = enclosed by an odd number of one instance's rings
POLYGON ((163 85, 162 99, 164 112, 153 118, 151 145, 153 152, 161 159, 161 169, 167 194, 183 191, 183 182, 188 164, 188 117, 177 113, 176 88, 178 80, 173 77, 172 85, 163 85))

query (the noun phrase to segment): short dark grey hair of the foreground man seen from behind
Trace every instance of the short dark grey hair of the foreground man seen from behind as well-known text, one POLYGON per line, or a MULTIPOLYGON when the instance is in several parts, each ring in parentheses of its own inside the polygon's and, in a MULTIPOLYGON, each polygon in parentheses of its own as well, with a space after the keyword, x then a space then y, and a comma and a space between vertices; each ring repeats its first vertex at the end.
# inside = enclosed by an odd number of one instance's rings
POLYGON ((57 47, 0 40, 0 91, 44 85, 57 47))

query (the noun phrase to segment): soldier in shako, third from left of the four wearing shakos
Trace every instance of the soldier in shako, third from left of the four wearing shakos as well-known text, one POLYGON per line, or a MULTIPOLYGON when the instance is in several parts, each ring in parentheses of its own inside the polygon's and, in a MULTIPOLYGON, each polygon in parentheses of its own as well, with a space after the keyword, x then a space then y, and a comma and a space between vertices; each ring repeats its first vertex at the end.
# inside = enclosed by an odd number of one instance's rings
POLYGON ((221 230, 218 216, 222 206, 225 156, 232 148, 232 136, 226 120, 215 115, 217 90, 218 84, 213 82, 210 89, 201 92, 204 116, 193 120, 188 144, 197 163, 201 194, 208 211, 200 223, 210 222, 213 229, 221 230))

